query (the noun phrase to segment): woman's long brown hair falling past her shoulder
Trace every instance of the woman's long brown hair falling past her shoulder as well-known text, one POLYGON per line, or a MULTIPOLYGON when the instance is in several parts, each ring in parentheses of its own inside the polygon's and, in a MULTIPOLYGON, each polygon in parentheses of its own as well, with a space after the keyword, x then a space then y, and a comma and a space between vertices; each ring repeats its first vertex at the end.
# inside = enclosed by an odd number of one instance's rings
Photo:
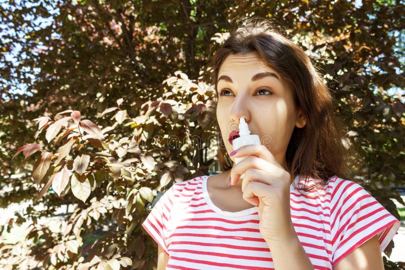
MULTIPOLYGON (((290 174, 304 176, 305 185, 300 190, 310 191, 327 184, 334 175, 348 176, 349 156, 345 148, 345 135, 341 122, 334 114, 332 96, 309 57, 291 40, 277 32, 270 21, 243 19, 234 25, 229 38, 213 58, 214 84, 221 64, 230 54, 258 53, 293 87, 295 105, 306 116, 303 128, 294 128, 287 147, 286 160, 290 174), (317 185, 308 187, 310 180, 319 179, 317 185)), ((217 121, 218 161, 222 170, 232 168, 217 121)), ((297 188, 297 187, 296 187, 297 188)))

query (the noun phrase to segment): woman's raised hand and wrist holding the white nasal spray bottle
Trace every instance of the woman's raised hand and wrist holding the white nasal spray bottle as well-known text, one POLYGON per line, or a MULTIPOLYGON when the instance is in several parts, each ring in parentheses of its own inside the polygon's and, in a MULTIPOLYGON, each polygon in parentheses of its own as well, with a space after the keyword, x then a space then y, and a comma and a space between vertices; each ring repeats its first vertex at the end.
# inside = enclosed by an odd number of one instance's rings
POLYGON ((231 169, 231 185, 242 179, 243 198, 259 210, 259 229, 266 242, 296 237, 290 214, 291 175, 263 145, 247 145, 232 157, 240 158, 231 169))

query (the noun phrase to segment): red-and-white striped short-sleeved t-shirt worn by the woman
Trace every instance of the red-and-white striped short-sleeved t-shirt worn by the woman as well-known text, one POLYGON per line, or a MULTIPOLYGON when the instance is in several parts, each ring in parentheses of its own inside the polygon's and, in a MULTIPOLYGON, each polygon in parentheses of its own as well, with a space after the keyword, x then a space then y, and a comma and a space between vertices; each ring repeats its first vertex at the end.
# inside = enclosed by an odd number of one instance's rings
MULTIPOLYGON (((174 184, 142 223, 169 254, 166 268, 274 269, 259 231, 258 208, 222 211, 208 195, 208 177, 174 184)), ((294 181, 304 178, 297 175, 294 181)), ((337 176, 313 192, 300 193, 291 185, 290 204, 295 231, 315 269, 332 269, 376 234, 382 252, 400 226, 360 185, 337 176)))

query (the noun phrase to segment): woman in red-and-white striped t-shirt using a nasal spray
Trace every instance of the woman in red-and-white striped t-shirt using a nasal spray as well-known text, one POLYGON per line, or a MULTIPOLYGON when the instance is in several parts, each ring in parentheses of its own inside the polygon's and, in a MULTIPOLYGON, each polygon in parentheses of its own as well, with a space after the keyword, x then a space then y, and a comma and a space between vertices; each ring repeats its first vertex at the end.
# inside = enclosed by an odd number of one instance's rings
POLYGON ((158 269, 383 269, 400 222, 339 177, 347 152, 332 98, 304 51, 246 20, 214 75, 223 172, 174 184, 143 222, 158 269), (241 117, 262 146, 232 151, 241 117))

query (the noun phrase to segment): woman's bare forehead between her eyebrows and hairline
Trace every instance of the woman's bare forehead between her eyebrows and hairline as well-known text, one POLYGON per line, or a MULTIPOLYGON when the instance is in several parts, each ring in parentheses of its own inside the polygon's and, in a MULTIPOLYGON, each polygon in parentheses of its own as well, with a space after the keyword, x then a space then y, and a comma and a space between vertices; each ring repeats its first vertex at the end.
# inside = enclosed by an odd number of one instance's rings
POLYGON ((269 71, 279 74, 268 65, 268 63, 259 56, 257 53, 245 53, 245 54, 230 54, 222 63, 218 77, 221 75, 231 75, 237 72, 261 72, 269 71))

